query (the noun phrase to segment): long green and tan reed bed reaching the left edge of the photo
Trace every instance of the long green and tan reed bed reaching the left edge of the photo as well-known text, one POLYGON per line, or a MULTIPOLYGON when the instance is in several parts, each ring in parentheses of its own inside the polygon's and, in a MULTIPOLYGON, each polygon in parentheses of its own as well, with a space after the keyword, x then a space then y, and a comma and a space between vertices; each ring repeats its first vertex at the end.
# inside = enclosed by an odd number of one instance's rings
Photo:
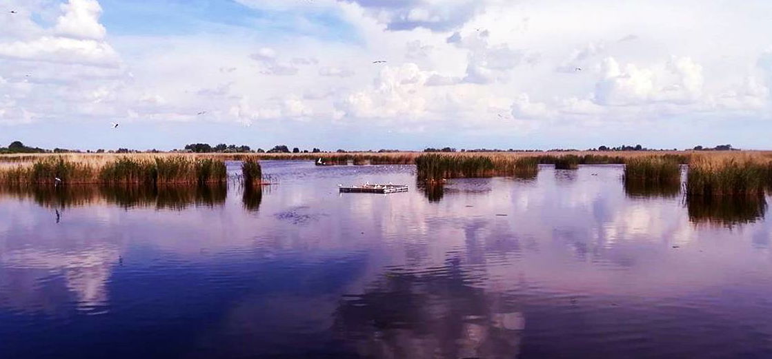
POLYGON ((225 163, 221 160, 182 156, 154 159, 124 156, 111 161, 76 161, 54 156, 0 168, 0 183, 24 185, 203 184, 223 183, 227 177, 225 163))

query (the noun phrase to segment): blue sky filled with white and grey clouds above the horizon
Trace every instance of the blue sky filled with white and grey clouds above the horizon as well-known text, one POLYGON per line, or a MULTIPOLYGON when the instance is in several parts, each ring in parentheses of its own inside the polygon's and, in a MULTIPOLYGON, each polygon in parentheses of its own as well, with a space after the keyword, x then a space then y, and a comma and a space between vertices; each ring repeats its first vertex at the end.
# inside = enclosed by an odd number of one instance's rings
POLYGON ((770 149, 770 14, 766 0, 0 0, 0 146, 770 149))

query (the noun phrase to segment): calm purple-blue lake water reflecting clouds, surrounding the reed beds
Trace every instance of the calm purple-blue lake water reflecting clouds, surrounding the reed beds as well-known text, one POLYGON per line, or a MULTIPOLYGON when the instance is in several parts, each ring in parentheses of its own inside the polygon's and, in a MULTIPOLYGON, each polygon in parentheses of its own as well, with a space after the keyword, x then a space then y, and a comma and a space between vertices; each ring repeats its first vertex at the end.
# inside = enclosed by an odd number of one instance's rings
POLYGON ((0 358, 772 357, 769 198, 262 166, 262 190, 0 189, 0 358), (367 181, 411 190, 338 193, 367 181))

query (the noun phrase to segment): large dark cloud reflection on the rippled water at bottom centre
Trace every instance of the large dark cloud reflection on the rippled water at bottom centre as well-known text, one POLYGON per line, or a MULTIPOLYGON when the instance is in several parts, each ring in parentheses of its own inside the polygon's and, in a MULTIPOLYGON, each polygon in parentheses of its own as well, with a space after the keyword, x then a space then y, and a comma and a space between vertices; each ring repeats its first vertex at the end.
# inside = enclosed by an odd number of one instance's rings
POLYGON ((454 258, 388 271, 340 301, 334 328, 364 357, 517 357, 526 318, 503 294, 473 287, 477 280, 454 258))

